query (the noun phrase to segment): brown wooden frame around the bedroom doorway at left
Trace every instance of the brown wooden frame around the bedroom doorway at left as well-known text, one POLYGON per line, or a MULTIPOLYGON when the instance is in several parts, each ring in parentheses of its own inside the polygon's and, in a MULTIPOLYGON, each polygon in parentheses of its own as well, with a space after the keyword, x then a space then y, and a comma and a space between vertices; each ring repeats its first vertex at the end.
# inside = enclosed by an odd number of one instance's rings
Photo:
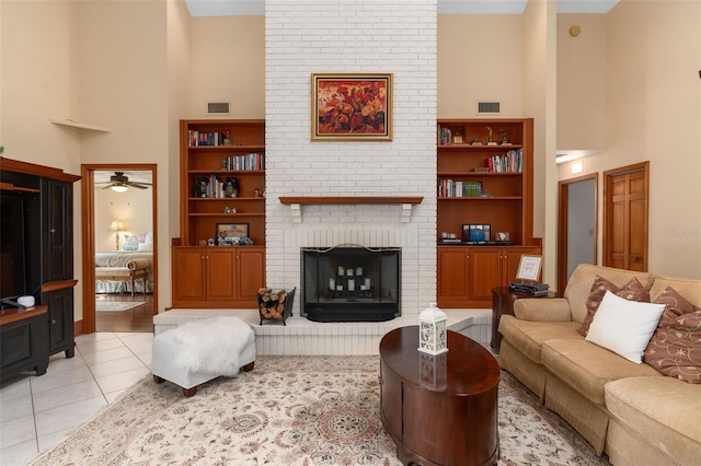
POLYGON ((82 267, 83 267, 83 334, 92 334, 96 328, 95 316, 95 176, 96 171, 142 171, 151 172, 151 225, 153 229, 153 314, 158 314, 158 202, 157 202, 157 174, 158 165, 154 163, 110 163, 110 164, 81 164, 82 195, 82 267))

